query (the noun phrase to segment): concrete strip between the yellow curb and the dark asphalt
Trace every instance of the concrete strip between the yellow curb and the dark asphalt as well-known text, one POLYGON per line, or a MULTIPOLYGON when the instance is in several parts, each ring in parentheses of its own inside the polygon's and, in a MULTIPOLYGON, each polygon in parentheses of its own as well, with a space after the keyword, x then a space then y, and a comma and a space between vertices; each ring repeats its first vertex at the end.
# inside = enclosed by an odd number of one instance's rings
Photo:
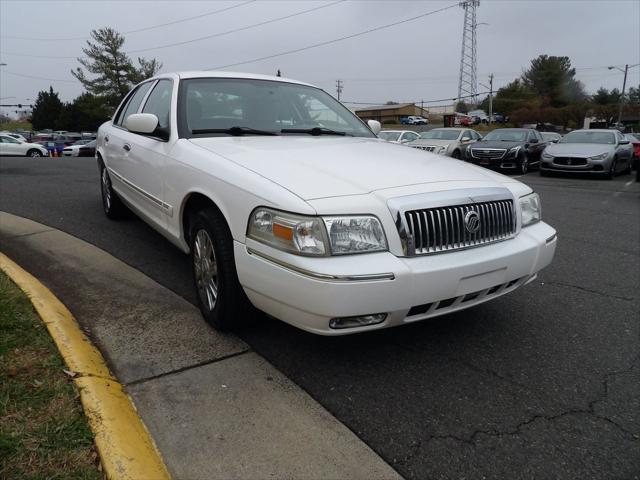
POLYGON ((71 310, 174 478, 399 478, 242 340, 104 251, 2 212, 0 251, 71 310))

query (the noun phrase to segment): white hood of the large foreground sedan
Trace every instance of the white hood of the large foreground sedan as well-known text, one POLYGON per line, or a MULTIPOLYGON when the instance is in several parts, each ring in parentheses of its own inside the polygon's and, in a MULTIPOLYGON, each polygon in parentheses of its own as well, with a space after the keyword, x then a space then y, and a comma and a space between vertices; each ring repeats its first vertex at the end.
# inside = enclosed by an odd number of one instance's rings
POLYGON ((508 180, 459 160, 354 137, 211 137, 190 142, 281 185, 304 200, 446 181, 508 180))

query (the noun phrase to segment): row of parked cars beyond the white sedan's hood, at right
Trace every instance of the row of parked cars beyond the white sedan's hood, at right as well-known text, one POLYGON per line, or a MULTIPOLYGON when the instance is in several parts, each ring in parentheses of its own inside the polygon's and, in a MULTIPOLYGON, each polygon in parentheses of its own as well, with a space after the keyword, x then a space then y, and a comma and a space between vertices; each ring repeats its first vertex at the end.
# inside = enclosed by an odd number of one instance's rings
POLYGON ((612 178, 639 170, 640 134, 618 130, 574 130, 564 137, 533 128, 501 128, 482 136, 471 128, 436 128, 416 133, 383 130, 378 136, 438 155, 496 170, 522 174, 536 168, 540 175, 583 172, 612 178))

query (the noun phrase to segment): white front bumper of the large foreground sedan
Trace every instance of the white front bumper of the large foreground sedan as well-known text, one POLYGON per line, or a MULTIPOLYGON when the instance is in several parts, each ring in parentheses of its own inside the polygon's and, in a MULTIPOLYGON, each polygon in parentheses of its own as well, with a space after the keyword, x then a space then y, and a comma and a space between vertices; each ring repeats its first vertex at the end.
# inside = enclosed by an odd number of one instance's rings
POLYGON ((556 241, 555 230, 539 222, 504 242, 411 258, 389 252, 297 257, 250 239, 246 245, 234 242, 234 253, 240 283, 257 308, 303 330, 344 335, 435 317, 508 293, 551 263, 556 241), (362 278, 368 275, 378 278, 362 278), (377 325, 329 328, 332 318, 377 313, 387 313, 377 325))

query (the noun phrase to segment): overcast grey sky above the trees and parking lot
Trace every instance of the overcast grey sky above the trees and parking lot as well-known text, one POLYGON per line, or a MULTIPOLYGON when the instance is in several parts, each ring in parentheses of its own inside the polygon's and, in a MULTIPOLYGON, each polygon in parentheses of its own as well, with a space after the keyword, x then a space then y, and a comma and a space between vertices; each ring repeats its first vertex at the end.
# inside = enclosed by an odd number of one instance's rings
MULTIPOLYGON (((464 11, 457 3, 0 0, 1 103, 33 103, 49 86, 73 100, 83 89, 70 70, 90 31, 105 26, 124 34, 132 59, 156 58, 161 72, 279 69, 333 95, 341 79, 345 102, 451 103, 436 100, 458 91, 464 11), (419 18, 381 28, 412 17, 419 18), (351 38, 278 55, 343 37, 351 38), (180 42, 188 43, 166 46, 180 42)), ((589 93, 622 87, 623 74, 608 66, 640 63, 640 0, 481 0, 477 22, 478 80, 488 85, 493 73, 494 90, 540 54, 568 56, 589 93)), ((627 88, 639 84, 636 66, 627 88)))

